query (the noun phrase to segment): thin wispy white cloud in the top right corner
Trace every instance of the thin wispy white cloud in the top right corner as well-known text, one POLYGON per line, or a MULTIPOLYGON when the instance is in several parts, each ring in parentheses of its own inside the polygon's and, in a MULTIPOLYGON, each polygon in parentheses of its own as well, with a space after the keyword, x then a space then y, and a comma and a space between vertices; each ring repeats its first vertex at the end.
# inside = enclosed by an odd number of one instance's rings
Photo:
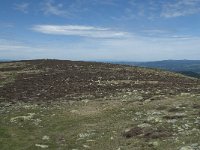
POLYGON ((200 13, 200 0, 176 0, 163 5, 161 17, 173 18, 200 13))

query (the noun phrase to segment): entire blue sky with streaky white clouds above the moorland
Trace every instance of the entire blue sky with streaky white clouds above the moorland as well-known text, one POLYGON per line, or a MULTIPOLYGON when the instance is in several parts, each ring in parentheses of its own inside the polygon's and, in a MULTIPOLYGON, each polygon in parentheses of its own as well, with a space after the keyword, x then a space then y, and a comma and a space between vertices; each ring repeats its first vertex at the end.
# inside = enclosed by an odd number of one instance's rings
POLYGON ((0 58, 200 59, 200 0, 1 0, 0 58))

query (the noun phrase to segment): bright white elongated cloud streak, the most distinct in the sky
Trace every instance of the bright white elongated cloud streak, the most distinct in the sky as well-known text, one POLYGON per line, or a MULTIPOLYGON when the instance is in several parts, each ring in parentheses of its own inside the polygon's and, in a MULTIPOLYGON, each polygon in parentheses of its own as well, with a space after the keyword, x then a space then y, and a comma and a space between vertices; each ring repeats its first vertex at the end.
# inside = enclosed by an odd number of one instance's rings
POLYGON ((35 25, 32 30, 44 34, 81 36, 88 38, 125 38, 129 34, 111 30, 109 28, 101 28, 94 26, 81 25, 35 25))

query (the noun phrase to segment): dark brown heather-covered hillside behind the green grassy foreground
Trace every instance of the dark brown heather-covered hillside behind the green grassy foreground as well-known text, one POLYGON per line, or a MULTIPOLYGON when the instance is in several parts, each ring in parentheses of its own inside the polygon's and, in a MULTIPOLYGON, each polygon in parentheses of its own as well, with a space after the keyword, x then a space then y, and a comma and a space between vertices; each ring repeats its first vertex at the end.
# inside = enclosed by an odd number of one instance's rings
POLYGON ((58 60, 1 63, 0 87, 7 100, 98 98, 138 90, 145 99, 158 94, 198 91, 199 80, 170 72, 103 63, 58 60))

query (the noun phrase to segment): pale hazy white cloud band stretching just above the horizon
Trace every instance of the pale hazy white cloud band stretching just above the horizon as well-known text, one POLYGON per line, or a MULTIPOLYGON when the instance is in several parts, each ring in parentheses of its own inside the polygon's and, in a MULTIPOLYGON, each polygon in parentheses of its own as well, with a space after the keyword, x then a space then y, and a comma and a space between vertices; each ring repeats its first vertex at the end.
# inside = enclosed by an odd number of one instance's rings
MULTIPOLYGON (((84 27, 83 27, 84 28, 84 27)), ((89 28, 89 27, 85 27, 89 28)), ((103 29, 102 29, 103 30, 103 29)), ((0 39, 1 58, 151 61, 200 59, 200 38, 184 36, 65 40, 38 44, 0 39)))

